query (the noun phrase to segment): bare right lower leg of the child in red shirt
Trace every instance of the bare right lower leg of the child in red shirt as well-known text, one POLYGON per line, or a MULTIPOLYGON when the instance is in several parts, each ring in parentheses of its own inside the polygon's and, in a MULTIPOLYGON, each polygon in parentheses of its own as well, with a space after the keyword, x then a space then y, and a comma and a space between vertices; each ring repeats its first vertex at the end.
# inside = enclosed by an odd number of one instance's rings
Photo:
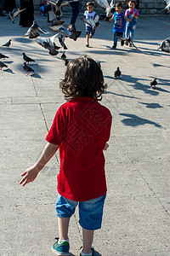
POLYGON ((82 239, 83 239, 83 253, 91 253, 92 242, 94 240, 94 230, 84 230, 82 229, 82 239))

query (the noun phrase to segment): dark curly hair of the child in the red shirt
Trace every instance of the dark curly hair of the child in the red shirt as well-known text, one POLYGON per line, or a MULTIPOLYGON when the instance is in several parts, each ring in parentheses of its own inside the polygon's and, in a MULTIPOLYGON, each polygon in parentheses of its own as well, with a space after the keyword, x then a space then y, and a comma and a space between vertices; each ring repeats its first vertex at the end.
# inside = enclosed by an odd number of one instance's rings
POLYGON ((65 99, 76 96, 102 99, 107 85, 99 64, 88 55, 69 61, 65 71, 65 79, 59 83, 65 99))

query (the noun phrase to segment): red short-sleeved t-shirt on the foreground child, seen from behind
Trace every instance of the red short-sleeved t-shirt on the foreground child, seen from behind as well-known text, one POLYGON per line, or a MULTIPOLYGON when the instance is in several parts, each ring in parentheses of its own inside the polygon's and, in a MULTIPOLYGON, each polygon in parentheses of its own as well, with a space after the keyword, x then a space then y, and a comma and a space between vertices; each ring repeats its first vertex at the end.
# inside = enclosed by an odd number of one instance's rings
POLYGON ((111 112, 91 97, 61 105, 46 140, 59 145, 57 189, 72 201, 88 201, 106 193, 103 149, 111 132, 111 112))

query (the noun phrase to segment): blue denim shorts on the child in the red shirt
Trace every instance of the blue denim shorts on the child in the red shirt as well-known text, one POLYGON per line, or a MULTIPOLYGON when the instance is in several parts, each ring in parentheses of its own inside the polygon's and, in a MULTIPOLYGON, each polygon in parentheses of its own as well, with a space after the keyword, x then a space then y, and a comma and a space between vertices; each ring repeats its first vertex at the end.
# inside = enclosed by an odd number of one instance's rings
POLYGON ((76 207, 79 208, 79 224, 84 230, 99 230, 101 228, 105 195, 89 201, 71 201, 58 195, 56 212, 60 218, 71 218, 76 207))

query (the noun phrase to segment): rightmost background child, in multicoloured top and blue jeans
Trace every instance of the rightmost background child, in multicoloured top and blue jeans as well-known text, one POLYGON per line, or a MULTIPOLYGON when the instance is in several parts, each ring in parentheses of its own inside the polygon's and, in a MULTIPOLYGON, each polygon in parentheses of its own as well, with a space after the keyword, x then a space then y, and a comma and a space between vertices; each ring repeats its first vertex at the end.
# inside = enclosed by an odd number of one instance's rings
MULTIPOLYGON (((136 25, 137 25, 137 20, 139 18, 139 12, 137 9, 135 9, 135 1, 130 0, 128 2, 128 7, 129 9, 126 10, 125 12, 125 18, 127 19, 127 24, 126 24, 126 29, 125 29, 125 37, 129 38, 131 41, 133 42, 133 38, 134 38, 134 32, 136 29, 136 25)), ((125 43, 128 44, 128 43, 125 43)), ((132 46, 131 43, 129 43, 129 46, 132 46)))

